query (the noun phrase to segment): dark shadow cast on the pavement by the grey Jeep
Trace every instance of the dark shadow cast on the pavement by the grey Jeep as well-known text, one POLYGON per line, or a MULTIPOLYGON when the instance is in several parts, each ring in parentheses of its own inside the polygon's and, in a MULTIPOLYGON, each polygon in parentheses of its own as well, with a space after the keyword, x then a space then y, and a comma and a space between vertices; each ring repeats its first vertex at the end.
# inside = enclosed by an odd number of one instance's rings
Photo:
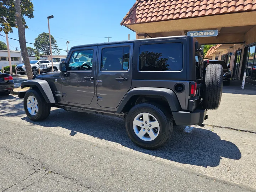
POLYGON ((240 150, 235 144, 221 140, 216 133, 203 128, 175 126, 170 141, 160 149, 151 151, 133 144, 126 134, 124 121, 117 117, 57 109, 51 111, 43 122, 32 122, 28 117, 23 117, 22 120, 39 126, 62 127, 70 130, 71 136, 77 133, 91 135, 182 164, 215 167, 222 157, 236 160, 241 158, 240 150))

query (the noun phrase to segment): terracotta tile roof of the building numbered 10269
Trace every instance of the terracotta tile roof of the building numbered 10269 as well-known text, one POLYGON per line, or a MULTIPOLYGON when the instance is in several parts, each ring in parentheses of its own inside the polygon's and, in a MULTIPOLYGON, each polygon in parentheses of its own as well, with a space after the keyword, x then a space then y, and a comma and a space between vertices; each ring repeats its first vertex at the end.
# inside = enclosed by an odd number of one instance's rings
POLYGON ((136 0, 121 25, 256 11, 256 0, 136 0))

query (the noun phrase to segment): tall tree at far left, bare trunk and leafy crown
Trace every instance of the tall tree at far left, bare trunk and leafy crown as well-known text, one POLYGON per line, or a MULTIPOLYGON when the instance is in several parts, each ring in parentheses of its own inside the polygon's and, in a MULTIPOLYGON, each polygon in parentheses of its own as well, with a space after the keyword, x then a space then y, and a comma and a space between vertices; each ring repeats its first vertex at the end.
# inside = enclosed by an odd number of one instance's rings
POLYGON ((24 16, 33 18, 33 11, 34 6, 31 0, 0 0, 0 32, 8 34, 12 33, 12 27, 18 28, 20 48, 28 79, 33 78, 33 73, 27 53, 25 28, 28 26, 24 16))

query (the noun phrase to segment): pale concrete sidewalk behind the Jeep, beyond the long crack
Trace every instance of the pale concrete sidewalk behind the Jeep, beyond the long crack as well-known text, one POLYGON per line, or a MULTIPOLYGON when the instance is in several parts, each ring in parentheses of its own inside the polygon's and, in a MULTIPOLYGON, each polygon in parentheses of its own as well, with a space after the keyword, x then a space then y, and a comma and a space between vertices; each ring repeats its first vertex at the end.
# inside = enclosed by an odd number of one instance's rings
POLYGON ((218 110, 209 110, 204 124, 228 127, 256 133, 256 86, 241 81, 231 81, 223 87, 222 100, 218 110))

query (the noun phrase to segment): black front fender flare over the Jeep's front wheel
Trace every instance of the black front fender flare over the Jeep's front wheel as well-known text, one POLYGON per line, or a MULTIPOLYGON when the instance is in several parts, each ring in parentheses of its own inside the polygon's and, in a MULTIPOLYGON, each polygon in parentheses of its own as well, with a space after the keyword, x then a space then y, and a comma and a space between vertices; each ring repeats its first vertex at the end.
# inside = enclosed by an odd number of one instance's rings
MULTIPOLYGON (((42 80, 42 79, 27 80, 21 83, 21 89, 23 89, 24 87, 37 87, 39 91, 42 93, 47 103, 55 103, 52 90, 50 89, 50 86, 46 80, 42 80)), ((24 98, 24 95, 23 95, 23 98, 24 98)))

